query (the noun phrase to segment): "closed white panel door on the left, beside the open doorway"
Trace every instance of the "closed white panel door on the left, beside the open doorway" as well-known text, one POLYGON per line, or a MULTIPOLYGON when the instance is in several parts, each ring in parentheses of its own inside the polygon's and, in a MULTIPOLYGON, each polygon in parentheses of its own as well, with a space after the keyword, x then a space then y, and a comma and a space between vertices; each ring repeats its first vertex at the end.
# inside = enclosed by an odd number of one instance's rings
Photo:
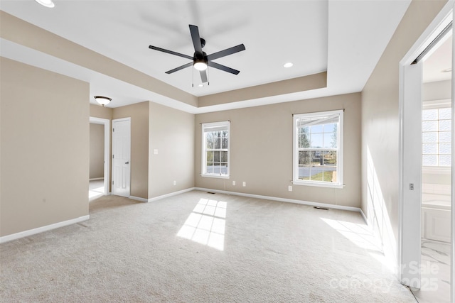
POLYGON ((112 194, 129 197, 131 118, 112 120, 112 194))

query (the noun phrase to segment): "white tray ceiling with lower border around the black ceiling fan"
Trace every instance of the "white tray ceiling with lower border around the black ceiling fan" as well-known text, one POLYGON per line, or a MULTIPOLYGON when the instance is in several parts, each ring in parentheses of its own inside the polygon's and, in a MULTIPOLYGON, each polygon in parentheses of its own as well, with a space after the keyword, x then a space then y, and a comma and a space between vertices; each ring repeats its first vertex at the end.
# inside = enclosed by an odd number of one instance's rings
POLYGON ((55 8, 48 9, 33 0, 0 1, 0 9, 6 13, 197 97, 328 73, 328 85, 323 89, 205 108, 158 96, 5 39, 1 39, 0 54, 90 82, 90 95, 112 97, 111 107, 154 100, 199 113, 360 92, 409 4, 410 0, 55 0, 55 8), (245 44, 245 51, 215 60, 240 74, 210 68, 210 85, 205 87, 198 87, 200 77, 192 67, 165 74, 188 60, 148 47, 193 55, 188 24, 199 27, 207 54, 245 44), (285 62, 294 66, 286 69, 285 62))

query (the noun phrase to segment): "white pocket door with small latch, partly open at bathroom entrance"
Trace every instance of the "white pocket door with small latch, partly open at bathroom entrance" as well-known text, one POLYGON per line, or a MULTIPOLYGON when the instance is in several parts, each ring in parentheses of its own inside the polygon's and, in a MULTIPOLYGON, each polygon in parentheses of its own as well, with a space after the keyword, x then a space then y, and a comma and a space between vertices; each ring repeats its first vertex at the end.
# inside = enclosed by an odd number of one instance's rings
POLYGON ((422 205, 422 62, 403 67, 400 281, 420 288, 420 216, 422 205))

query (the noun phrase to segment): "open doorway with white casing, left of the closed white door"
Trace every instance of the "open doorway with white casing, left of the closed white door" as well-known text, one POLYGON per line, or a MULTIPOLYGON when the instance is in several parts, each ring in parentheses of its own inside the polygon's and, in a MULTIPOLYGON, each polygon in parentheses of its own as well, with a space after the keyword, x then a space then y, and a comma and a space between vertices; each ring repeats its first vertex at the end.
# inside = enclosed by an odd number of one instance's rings
POLYGON ((110 121, 90 117, 89 201, 109 194, 110 121))

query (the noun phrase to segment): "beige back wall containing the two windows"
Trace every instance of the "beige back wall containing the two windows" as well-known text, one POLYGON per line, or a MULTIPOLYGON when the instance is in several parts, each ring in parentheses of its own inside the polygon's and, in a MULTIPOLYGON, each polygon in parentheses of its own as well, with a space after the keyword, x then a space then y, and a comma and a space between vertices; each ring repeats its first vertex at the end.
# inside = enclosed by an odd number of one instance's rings
POLYGON ((196 115, 196 187, 360 207, 360 94, 196 115), (292 185, 292 114, 345 109, 343 189, 292 185), (200 123, 230 120, 230 179, 200 176, 200 123), (232 185, 236 181, 236 185, 232 185), (247 182, 242 187, 242 182, 247 182))

